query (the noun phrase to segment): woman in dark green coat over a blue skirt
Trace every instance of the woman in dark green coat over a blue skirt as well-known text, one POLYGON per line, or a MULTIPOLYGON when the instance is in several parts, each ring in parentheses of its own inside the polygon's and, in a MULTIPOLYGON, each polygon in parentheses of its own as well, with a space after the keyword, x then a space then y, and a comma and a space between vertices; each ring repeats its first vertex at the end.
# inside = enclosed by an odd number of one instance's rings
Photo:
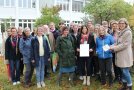
POLYGON ((71 84, 73 85, 75 50, 73 38, 69 35, 67 27, 62 28, 62 35, 57 38, 56 52, 59 55, 60 67, 57 84, 60 85, 62 73, 70 73, 71 84))

